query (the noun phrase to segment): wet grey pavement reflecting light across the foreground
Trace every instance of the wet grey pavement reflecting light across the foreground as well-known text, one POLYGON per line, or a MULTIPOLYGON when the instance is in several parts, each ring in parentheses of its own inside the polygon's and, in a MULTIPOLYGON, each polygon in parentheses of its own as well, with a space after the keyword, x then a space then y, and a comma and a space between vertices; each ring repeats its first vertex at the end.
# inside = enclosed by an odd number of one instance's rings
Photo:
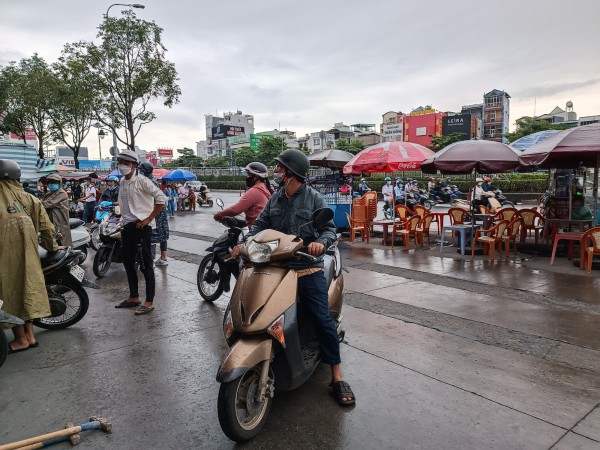
MULTIPOLYGON (((79 324, 38 330, 39 348, 9 356, 0 444, 101 415, 112 434, 87 432, 80 448, 236 447, 216 416, 228 298, 205 303, 196 288, 198 263, 224 230, 212 213, 170 221, 172 259, 155 269, 152 314, 113 307, 127 296, 116 265, 96 280, 100 290, 88 289, 79 324)), ((550 266, 525 254, 493 264, 456 247, 440 254, 434 240, 406 252, 342 239, 342 360, 357 405, 333 401, 321 366, 276 395, 244 448, 600 448, 598 274, 566 258, 550 266)))

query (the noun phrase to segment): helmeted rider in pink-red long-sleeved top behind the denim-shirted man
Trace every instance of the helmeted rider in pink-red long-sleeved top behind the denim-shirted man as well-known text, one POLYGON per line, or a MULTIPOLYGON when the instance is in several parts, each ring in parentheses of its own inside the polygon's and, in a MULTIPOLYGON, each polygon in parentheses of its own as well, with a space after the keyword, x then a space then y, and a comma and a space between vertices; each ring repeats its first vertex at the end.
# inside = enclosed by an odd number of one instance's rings
POLYGON ((217 212, 213 217, 216 221, 223 217, 237 216, 244 213, 248 227, 252 227, 256 218, 263 210, 273 193, 269 183, 267 166, 260 162, 251 162, 246 166, 246 187, 248 190, 233 206, 217 212))

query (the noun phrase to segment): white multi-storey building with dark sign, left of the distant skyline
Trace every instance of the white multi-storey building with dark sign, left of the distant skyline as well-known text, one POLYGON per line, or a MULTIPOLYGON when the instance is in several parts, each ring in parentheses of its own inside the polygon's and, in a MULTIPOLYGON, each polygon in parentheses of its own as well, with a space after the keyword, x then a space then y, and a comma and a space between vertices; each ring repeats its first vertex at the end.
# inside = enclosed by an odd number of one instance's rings
POLYGON ((231 156, 236 148, 249 146, 250 135, 254 134, 254 116, 242 111, 223 113, 223 117, 206 114, 206 141, 196 144, 201 158, 213 156, 231 156))

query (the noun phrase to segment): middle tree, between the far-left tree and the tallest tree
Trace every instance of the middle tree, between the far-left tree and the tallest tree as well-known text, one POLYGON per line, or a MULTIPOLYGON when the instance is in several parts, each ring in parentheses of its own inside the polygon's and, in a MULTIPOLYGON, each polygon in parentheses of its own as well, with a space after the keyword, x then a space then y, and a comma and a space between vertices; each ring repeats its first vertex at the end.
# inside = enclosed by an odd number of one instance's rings
POLYGON ((79 149, 90 132, 92 118, 100 106, 94 80, 85 62, 66 45, 58 62, 52 66, 56 84, 52 89, 51 134, 73 152, 79 169, 79 149))

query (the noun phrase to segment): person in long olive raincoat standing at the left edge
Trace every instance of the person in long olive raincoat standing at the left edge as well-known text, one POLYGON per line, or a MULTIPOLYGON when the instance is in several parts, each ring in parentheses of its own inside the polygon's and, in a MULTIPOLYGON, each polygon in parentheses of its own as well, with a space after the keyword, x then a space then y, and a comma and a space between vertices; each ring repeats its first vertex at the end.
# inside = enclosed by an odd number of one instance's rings
POLYGON ((31 321, 50 315, 37 234, 46 250, 58 250, 46 210, 23 190, 20 177, 16 162, 0 159, 0 298, 3 311, 26 321, 13 328, 10 353, 37 347, 31 321))

